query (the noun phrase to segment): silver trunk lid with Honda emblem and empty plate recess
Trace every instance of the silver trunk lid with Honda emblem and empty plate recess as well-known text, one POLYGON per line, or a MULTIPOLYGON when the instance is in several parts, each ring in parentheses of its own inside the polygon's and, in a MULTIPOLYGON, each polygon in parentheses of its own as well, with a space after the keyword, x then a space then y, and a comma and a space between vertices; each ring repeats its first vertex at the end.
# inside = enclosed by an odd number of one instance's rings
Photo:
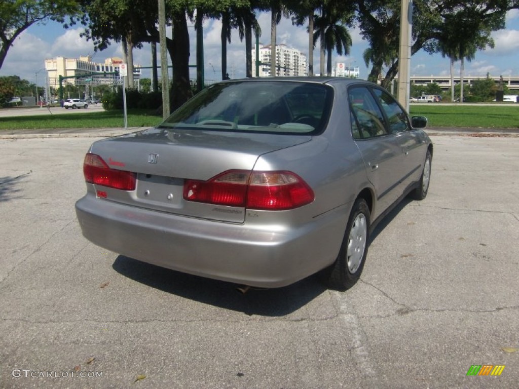
POLYGON ((252 171, 259 156, 309 140, 309 135, 150 129, 95 142, 90 152, 111 169, 136 173, 134 191, 96 186, 100 197, 177 215, 242 223, 242 207, 185 201, 184 180, 206 181, 228 170, 252 171))

